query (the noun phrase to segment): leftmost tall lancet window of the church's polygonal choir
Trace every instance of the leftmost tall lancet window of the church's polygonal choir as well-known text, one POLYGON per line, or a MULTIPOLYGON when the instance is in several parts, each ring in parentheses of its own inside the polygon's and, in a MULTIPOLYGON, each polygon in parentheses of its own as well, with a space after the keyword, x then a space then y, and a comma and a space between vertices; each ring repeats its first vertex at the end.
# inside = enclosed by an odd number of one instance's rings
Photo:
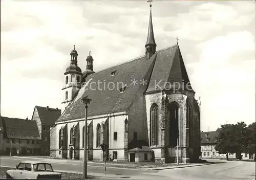
POLYGON ((154 103, 150 109, 150 142, 151 146, 158 145, 158 105, 154 103))

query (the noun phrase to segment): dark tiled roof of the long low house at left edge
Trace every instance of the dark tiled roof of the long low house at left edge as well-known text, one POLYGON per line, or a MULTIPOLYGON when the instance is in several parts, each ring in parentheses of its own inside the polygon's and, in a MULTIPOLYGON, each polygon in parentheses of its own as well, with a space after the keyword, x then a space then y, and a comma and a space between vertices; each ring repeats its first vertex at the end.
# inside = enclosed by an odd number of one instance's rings
POLYGON ((1 116, 7 138, 40 140, 35 121, 1 116))

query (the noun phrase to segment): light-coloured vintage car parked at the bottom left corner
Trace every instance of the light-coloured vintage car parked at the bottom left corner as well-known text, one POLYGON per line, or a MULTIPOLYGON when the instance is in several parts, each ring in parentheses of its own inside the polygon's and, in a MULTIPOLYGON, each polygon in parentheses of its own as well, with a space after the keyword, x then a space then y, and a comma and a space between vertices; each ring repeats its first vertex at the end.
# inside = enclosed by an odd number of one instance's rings
POLYGON ((7 179, 61 179, 61 173, 54 172, 46 162, 24 161, 16 169, 6 171, 7 179))

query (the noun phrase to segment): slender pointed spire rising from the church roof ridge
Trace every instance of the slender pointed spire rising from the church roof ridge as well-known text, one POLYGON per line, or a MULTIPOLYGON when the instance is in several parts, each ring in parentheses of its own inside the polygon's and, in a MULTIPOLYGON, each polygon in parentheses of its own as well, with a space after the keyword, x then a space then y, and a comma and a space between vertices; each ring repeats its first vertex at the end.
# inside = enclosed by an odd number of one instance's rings
POLYGON ((156 47, 157 47, 157 44, 155 42, 155 37, 154 37, 152 13, 151 13, 152 1, 148 1, 148 2, 150 2, 150 23, 148 24, 147 40, 145 44, 146 59, 149 59, 156 52, 156 47))

